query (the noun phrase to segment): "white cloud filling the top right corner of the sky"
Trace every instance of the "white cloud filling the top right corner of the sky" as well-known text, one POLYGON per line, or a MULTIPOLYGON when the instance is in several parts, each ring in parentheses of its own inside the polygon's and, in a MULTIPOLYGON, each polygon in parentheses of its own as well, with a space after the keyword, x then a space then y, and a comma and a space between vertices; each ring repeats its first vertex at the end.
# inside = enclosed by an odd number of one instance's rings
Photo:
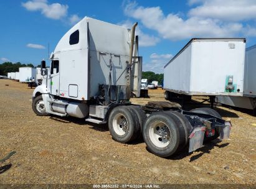
POLYGON ((222 19, 225 21, 243 21, 256 19, 255 0, 190 0, 189 4, 201 2, 189 11, 189 16, 222 19))

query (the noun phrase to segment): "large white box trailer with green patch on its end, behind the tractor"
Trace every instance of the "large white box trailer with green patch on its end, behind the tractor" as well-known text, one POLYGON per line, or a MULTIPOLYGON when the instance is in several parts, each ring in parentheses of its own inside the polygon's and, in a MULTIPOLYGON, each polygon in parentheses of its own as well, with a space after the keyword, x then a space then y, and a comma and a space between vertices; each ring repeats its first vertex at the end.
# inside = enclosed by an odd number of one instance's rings
POLYGON ((166 99, 242 96, 245 39, 191 39, 164 66, 166 99))

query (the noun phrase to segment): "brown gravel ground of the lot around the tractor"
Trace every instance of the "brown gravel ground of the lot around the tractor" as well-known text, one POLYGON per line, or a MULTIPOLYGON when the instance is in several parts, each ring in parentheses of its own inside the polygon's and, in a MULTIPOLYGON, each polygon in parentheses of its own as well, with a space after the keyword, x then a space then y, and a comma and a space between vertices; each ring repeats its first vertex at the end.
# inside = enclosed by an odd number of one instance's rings
MULTIPOLYGON (((256 183, 256 118, 249 113, 217 107, 232 121, 229 141, 164 159, 149 153, 143 141, 113 141, 107 126, 36 116, 32 91, 0 80, 0 159, 16 151, 0 163, 9 165, 0 171, 0 183, 256 183)), ((131 101, 164 101, 163 90, 149 90, 149 96, 131 101)))

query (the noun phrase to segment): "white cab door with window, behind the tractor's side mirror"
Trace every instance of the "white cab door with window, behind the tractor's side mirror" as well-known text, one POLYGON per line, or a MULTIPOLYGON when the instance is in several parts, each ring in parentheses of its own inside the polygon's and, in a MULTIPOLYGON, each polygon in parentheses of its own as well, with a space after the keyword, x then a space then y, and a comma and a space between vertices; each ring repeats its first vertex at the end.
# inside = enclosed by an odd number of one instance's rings
POLYGON ((49 85, 50 85, 50 94, 59 96, 60 89, 60 72, 59 72, 59 59, 52 60, 50 63, 50 76, 49 76, 49 85))

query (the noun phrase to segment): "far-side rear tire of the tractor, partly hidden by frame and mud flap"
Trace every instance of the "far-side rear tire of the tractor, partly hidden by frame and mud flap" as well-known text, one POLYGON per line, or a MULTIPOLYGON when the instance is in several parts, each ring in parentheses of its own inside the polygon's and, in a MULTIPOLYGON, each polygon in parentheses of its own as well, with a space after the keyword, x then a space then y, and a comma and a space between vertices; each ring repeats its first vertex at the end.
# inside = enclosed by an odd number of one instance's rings
MULTIPOLYGON (((200 114, 210 114, 212 116, 215 116, 217 118, 222 119, 220 114, 217 113, 216 110, 211 109, 211 108, 195 108, 195 109, 191 109, 191 112, 200 113, 200 114)), ((217 139, 217 137, 219 137, 219 134, 220 134, 220 129, 219 129, 219 127, 216 127, 214 136, 204 137, 204 141, 209 142, 209 141, 212 141, 214 139, 217 139)))

